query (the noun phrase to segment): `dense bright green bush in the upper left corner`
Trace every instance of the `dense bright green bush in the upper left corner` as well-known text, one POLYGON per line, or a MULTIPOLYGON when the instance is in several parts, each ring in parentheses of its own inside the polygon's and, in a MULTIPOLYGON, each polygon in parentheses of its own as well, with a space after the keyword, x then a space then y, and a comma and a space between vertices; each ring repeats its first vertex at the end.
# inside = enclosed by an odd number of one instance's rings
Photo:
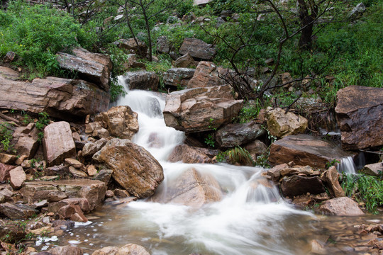
POLYGON ((93 35, 65 11, 47 5, 9 1, 6 11, 0 11, 0 57, 16 52, 19 58, 14 64, 27 69, 29 79, 61 74, 56 52, 75 45, 89 46, 93 35))

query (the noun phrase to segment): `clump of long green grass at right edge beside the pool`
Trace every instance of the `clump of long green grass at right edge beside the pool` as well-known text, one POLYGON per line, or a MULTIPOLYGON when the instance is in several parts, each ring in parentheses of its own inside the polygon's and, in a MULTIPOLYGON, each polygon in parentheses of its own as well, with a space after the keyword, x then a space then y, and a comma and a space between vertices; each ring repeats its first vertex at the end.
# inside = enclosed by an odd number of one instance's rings
POLYGON ((342 174, 342 188, 346 196, 363 202, 369 212, 377 214, 383 206, 383 180, 376 176, 342 174))

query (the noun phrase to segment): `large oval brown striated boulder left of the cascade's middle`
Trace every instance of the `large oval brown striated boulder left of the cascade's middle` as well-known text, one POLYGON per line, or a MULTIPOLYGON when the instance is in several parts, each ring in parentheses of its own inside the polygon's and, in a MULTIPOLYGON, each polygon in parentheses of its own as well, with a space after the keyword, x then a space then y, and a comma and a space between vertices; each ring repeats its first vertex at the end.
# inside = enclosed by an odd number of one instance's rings
POLYGON ((162 166, 143 147, 113 138, 94 154, 96 162, 113 170, 113 179, 133 196, 147 198, 164 179, 162 166))

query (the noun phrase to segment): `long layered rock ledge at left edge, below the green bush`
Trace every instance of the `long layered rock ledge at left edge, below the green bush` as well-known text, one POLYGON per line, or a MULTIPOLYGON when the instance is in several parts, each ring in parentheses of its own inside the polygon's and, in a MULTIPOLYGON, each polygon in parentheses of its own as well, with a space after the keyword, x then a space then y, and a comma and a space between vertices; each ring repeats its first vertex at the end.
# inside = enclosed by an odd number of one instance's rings
POLYGON ((62 120, 84 118, 88 114, 106 111, 109 93, 82 80, 46 77, 33 81, 18 81, 18 73, 0 67, 0 108, 46 112, 62 120))

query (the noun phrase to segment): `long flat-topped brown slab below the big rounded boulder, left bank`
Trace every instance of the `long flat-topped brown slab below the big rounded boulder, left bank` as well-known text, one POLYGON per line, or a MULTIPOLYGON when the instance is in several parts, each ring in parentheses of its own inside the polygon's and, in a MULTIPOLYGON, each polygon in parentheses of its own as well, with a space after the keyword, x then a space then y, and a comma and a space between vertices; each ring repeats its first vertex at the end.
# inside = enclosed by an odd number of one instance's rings
POLYGON ((89 210, 104 201, 106 184, 101 181, 72 179, 60 181, 30 181, 23 187, 23 199, 29 204, 50 197, 51 193, 64 192, 68 198, 87 198, 89 210))

